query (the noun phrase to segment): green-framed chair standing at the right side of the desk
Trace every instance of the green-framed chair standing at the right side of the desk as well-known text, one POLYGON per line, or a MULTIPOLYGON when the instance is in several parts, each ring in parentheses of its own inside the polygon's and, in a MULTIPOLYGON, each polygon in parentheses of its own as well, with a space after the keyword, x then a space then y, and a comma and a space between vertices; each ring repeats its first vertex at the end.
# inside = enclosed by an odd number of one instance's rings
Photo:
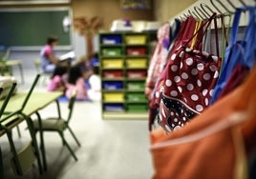
MULTIPOLYGON (((58 132, 61 139, 62 139, 63 145, 66 146, 67 149, 69 149, 69 151, 71 152, 71 154, 75 158, 75 161, 77 161, 77 157, 75 156, 75 152, 73 151, 73 149, 71 149, 70 145, 68 144, 68 142, 66 141, 66 139, 64 137, 64 131, 66 129, 69 129, 69 131, 71 132, 72 136, 75 139, 76 144, 78 146, 81 146, 79 141, 75 137, 74 131, 69 126, 69 123, 72 119, 73 109, 74 109, 74 105, 75 105, 75 97, 76 97, 76 91, 74 91, 71 99, 69 100, 69 103, 68 103, 69 112, 68 112, 68 117, 66 119, 62 118, 61 116, 59 116, 59 117, 49 117, 47 119, 42 119, 41 120, 41 122, 42 122, 41 129, 42 129, 42 131, 56 131, 56 132, 58 132)), ((33 120, 33 127, 34 127, 35 131, 39 130, 38 120, 33 120)), ((43 141, 41 141, 41 143, 43 143, 43 141)))

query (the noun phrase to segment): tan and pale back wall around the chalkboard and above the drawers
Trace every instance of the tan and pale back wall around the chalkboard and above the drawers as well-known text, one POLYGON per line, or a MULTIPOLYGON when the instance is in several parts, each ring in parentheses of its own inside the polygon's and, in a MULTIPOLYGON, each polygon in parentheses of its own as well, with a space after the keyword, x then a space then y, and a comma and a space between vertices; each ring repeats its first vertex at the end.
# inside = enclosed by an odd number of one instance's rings
MULTIPOLYGON (((152 0, 151 10, 122 10, 120 7, 120 0, 72 0, 70 4, 64 7, 71 7, 73 16, 99 16, 103 18, 104 26, 102 30, 109 30, 113 20, 128 18, 131 20, 158 20, 164 22, 172 17, 174 14, 185 9, 195 0, 152 0)), ((0 9, 7 8, 45 8, 50 5, 32 5, 32 6, 0 6, 0 9)), ((59 7, 60 5, 51 5, 51 7, 59 7)), ((63 6, 63 5, 61 5, 63 6)), ((19 20, 19 19, 18 19, 19 20)), ((97 36, 95 37, 95 44, 97 46, 97 36)), ((95 50, 97 47, 95 46, 95 50)), ((86 53, 86 42, 84 38, 73 30, 73 48, 77 56, 86 53)), ((58 50, 57 54, 63 54, 67 51, 58 50)), ((23 68, 34 69, 33 62, 39 57, 39 50, 26 51, 11 51, 11 59, 20 59, 23 61, 23 68)))

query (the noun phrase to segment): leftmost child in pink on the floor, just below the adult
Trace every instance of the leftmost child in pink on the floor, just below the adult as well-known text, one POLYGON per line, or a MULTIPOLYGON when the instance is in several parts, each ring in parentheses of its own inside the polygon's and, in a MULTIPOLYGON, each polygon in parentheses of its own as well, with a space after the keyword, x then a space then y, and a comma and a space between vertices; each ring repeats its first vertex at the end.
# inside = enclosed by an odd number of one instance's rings
POLYGON ((56 66, 53 70, 53 75, 50 79, 50 82, 47 86, 48 91, 60 90, 65 94, 66 85, 65 85, 65 76, 67 75, 67 68, 62 66, 56 66))

